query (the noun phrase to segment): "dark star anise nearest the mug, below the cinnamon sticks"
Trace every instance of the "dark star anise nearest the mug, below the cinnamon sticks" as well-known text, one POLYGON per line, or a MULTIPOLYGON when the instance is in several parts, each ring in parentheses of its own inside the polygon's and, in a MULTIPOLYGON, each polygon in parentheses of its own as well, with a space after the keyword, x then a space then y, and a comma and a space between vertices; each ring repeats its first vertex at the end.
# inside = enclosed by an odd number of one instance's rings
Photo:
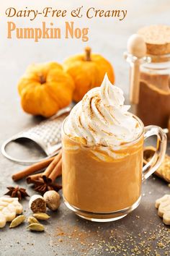
POLYGON ((58 183, 51 183, 51 182, 45 182, 45 181, 36 181, 35 182, 35 191, 40 192, 44 194, 45 192, 49 190, 55 190, 58 192, 58 190, 62 189, 61 184, 58 183))

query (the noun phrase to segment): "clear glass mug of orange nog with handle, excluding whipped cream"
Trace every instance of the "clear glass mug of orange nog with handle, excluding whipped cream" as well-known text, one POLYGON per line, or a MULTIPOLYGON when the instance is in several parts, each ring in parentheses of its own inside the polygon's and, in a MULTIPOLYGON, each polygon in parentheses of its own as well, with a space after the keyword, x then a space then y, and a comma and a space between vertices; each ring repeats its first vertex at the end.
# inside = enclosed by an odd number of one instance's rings
POLYGON ((114 147, 84 145, 62 127, 63 199, 66 206, 90 221, 116 221, 138 207, 141 184, 161 165, 166 153, 166 134, 157 126, 141 126, 132 142, 114 147), (143 167, 143 142, 156 135, 157 149, 143 167))

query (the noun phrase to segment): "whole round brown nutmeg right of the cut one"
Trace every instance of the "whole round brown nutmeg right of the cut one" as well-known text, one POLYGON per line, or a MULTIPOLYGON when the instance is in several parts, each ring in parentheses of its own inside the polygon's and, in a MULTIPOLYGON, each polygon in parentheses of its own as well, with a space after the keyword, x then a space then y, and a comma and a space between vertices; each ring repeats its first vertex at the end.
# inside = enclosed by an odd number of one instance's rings
POLYGON ((57 210, 60 205, 60 195, 54 190, 45 192, 43 195, 46 205, 50 210, 57 210))

